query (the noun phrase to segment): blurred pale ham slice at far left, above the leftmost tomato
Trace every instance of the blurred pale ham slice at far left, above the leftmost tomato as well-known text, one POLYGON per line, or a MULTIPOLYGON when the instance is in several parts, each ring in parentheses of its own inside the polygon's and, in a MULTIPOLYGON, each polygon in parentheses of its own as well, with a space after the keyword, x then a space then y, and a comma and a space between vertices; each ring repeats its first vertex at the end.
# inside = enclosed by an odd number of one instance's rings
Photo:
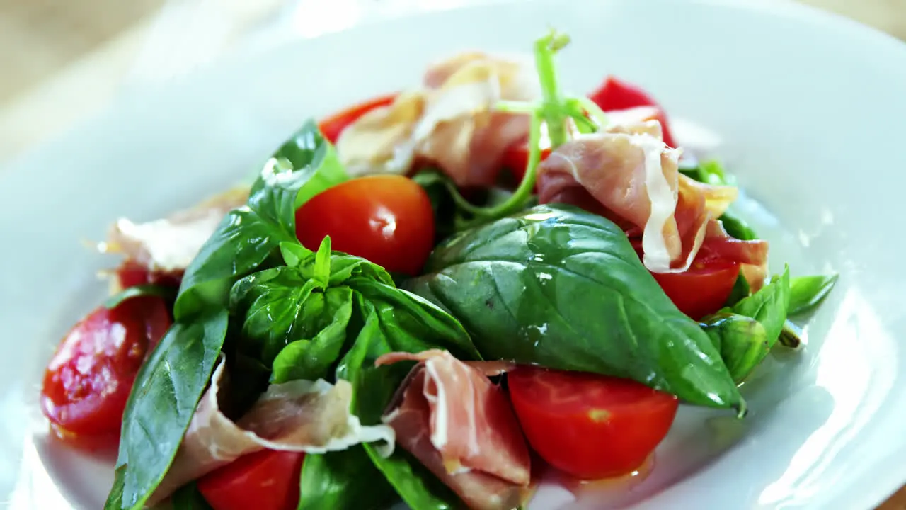
POLYGON ((120 253, 149 271, 181 274, 226 213, 245 205, 248 189, 237 187, 167 218, 136 223, 118 220, 98 249, 120 253))

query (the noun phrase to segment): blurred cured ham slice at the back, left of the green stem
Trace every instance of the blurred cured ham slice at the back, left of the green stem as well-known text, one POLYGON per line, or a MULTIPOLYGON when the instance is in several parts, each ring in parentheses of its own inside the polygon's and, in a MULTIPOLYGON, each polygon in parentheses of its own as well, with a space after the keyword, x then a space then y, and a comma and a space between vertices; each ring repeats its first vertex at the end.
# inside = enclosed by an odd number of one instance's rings
POLYGON ((482 53, 431 66, 423 88, 343 130, 337 152, 350 175, 406 173, 432 162, 460 186, 496 180, 507 147, 525 138, 528 117, 495 112, 500 100, 538 96, 534 67, 482 53))

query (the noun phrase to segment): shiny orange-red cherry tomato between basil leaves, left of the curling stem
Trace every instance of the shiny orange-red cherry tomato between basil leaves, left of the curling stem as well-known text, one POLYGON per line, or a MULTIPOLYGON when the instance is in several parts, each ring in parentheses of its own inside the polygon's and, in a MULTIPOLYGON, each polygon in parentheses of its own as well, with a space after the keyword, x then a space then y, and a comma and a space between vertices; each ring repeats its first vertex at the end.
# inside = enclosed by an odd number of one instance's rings
POLYGON ((434 246, 428 193, 401 175, 370 175, 315 195, 295 211, 295 233, 317 250, 331 236, 343 251, 386 270, 416 275, 434 246))

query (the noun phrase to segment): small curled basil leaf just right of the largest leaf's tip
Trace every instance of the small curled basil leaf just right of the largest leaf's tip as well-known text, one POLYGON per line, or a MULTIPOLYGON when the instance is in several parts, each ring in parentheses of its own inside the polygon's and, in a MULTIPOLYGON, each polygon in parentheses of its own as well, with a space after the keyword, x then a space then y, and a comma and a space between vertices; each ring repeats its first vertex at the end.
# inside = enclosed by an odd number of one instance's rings
POLYGON ((770 351, 765 327, 756 319, 733 313, 718 314, 703 322, 701 328, 720 350, 720 358, 737 384, 770 351))

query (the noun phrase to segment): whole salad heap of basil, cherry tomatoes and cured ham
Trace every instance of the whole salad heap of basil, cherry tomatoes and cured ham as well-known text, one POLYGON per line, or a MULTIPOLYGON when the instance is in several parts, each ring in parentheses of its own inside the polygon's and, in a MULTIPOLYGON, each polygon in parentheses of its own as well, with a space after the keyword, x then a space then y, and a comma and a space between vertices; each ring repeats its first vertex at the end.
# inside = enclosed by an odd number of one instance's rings
POLYGON ((116 447, 104 508, 508 510, 646 463, 740 392, 835 275, 767 271, 737 187, 609 76, 472 52, 308 121, 237 186, 117 221, 111 298, 43 379, 116 447))

